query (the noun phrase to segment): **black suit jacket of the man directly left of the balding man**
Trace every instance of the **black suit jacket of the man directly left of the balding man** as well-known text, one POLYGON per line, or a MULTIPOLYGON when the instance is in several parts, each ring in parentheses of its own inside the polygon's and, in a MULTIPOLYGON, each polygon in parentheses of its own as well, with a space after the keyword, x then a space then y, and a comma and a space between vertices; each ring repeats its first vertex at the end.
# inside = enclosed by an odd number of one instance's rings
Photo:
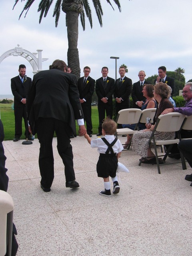
MULTIPOLYGON (((115 81, 115 90, 114 90, 114 98, 122 98, 122 106, 130 105, 130 94, 132 90, 132 80, 128 77, 124 77, 122 81, 122 86, 119 88, 120 78, 115 81)), ((118 104, 118 103, 116 103, 118 104)))

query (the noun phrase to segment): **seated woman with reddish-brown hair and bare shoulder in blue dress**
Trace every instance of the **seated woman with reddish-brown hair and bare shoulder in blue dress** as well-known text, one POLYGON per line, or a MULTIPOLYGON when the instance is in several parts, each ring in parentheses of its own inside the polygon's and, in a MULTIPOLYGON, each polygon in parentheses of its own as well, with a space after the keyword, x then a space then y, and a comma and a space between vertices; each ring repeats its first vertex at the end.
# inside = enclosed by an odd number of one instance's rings
MULTIPOLYGON (((145 102, 142 105, 141 110, 147 109, 147 108, 156 108, 157 103, 156 100, 153 97, 153 91, 154 91, 154 85, 152 84, 144 84, 143 86, 143 96, 146 98, 145 102)), ((131 130, 135 129, 136 124, 122 124, 123 128, 129 128, 131 130)), ((145 123, 139 123, 139 130, 145 129, 145 123)), ((132 135, 127 134, 127 141, 125 142, 124 148, 128 147, 128 144, 130 143, 132 135)))

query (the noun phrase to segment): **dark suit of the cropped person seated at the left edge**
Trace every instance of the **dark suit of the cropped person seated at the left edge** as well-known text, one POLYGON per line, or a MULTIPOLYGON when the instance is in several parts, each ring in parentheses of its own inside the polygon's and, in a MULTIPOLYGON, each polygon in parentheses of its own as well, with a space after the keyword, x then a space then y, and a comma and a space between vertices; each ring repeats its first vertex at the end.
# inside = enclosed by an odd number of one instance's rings
MULTIPOLYGON (((4 190, 6 192, 8 188, 9 178, 6 174, 7 168, 5 168, 6 156, 4 155, 4 148, 2 144, 3 140, 4 140, 4 129, 3 129, 3 124, 0 120, 0 190, 4 190)), ((16 255, 18 250, 18 243, 16 241, 15 234, 17 234, 17 230, 15 225, 13 224, 12 252, 11 252, 12 256, 16 255)), ((8 250, 5 256, 8 256, 8 250)))

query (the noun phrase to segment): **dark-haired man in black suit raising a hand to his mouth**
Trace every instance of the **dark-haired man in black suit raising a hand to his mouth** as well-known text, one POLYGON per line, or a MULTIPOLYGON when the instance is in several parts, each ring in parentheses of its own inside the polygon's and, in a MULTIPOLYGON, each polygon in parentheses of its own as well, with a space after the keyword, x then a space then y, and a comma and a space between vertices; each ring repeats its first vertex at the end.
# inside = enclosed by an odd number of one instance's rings
POLYGON ((166 76, 166 67, 161 66, 158 68, 158 77, 155 79, 154 84, 158 82, 163 82, 164 84, 169 85, 172 88, 172 94, 171 96, 174 96, 175 92, 175 80, 172 77, 166 76))

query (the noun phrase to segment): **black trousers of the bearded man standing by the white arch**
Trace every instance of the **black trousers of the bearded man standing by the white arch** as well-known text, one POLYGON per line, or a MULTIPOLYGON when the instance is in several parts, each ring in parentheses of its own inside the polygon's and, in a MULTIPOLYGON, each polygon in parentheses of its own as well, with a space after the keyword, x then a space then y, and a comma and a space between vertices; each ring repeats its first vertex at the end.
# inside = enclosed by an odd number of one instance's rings
POLYGON ((22 118, 25 123, 25 136, 28 137, 28 121, 27 121, 27 110, 25 104, 22 107, 14 107, 14 115, 15 115, 15 137, 20 138, 22 135, 22 118))

